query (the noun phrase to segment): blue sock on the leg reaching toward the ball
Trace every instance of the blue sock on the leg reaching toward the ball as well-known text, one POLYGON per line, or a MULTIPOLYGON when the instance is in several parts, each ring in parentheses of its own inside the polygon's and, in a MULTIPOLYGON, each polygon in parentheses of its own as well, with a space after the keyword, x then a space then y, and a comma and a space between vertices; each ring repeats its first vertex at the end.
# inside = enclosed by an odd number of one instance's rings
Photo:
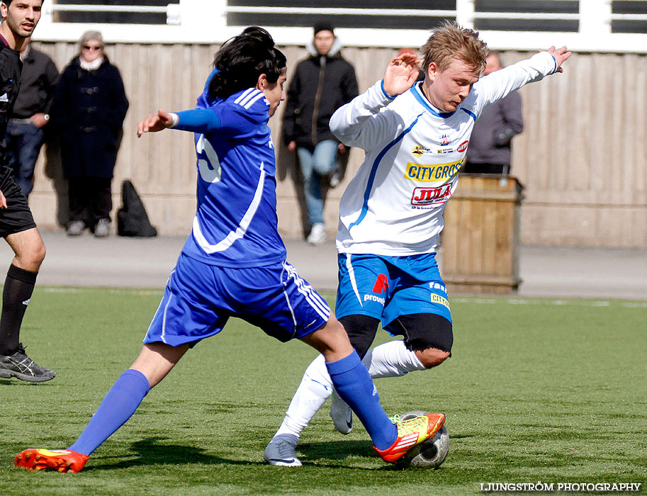
POLYGON ((380 405, 378 391, 355 350, 344 359, 326 362, 332 385, 359 421, 377 449, 390 448, 398 438, 398 427, 390 421, 380 405))

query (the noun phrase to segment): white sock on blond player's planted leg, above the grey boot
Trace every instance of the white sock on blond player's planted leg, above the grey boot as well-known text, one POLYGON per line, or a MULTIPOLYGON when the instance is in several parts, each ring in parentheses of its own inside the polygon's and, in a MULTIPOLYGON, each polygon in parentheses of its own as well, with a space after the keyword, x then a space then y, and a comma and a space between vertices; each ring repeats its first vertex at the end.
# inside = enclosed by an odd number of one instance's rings
POLYGON ((299 437, 331 394, 332 381, 330 381, 324 357, 319 355, 305 369, 286 417, 274 437, 280 434, 293 434, 299 437))

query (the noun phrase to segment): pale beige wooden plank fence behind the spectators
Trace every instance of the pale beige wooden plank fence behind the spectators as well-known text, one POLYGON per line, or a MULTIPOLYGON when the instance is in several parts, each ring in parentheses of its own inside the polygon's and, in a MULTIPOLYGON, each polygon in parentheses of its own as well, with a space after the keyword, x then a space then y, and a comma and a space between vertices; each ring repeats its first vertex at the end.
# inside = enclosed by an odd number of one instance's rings
MULTIPOLYGON (((558 40, 556 40, 558 41, 558 40)), ((72 43, 35 43, 62 69, 77 52, 72 43)), ((130 179, 152 223, 162 234, 186 234, 195 209, 193 138, 171 132, 135 137, 137 121, 159 106, 191 108, 210 72, 217 45, 108 45, 130 99, 119 152, 113 198, 130 179)), ((283 47, 289 74, 305 56, 303 47, 283 47)), ((381 77, 393 49, 346 48, 360 90, 381 77)), ((531 55, 505 52, 506 64, 531 55)), ((521 90, 526 128, 513 141, 512 174, 526 187, 522 204, 523 244, 647 247, 647 55, 578 53, 566 72, 521 90)), ((281 142, 281 107, 271 121, 281 142)), ((280 150, 279 229, 300 237, 290 160, 280 150)), ((60 228, 67 215, 67 186, 55 147, 39 159, 30 205, 42 229, 60 228)), ((330 191, 325 218, 330 236, 337 204, 363 152, 351 150, 347 179, 330 191)))

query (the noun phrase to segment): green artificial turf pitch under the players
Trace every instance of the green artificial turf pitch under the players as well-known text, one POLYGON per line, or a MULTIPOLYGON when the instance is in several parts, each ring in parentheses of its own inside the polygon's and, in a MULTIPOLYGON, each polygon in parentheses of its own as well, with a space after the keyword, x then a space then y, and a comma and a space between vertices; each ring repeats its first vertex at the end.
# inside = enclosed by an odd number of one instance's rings
POLYGON ((376 381, 389 415, 446 413, 439 470, 387 466, 359 422, 334 431, 329 405, 301 437, 303 467, 264 463, 315 352, 241 320, 189 351, 81 473, 14 468, 18 451, 72 444, 137 356, 160 296, 35 292, 21 339, 57 377, 0 379, 0 495, 468 495, 538 481, 646 492, 647 303, 622 301, 454 298, 451 359, 376 381))

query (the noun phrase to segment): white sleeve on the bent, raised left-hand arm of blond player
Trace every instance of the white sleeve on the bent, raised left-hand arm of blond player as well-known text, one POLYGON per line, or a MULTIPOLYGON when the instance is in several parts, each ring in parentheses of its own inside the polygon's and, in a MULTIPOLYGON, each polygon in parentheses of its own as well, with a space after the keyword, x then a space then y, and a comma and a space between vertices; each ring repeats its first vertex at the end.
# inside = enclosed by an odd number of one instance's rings
POLYGON ((332 114, 330 130, 344 145, 364 150, 388 142, 393 139, 395 113, 387 106, 393 99, 377 81, 332 114))

